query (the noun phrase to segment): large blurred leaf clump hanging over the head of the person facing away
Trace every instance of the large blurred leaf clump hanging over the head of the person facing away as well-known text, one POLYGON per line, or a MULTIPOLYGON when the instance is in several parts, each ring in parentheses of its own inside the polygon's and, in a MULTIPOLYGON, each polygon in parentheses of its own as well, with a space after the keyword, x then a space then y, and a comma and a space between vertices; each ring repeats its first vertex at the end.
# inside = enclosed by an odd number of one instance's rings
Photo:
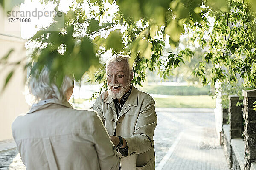
MULTIPOLYGON (((69 12, 68 15, 73 16, 73 13, 69 12)), ((73 25, 66 26, 62 31, 38 31, 32 38, 47 43, 46 47, 34 51, 32 74, 47 66, 50 80, 54 80, 59 87, 64 75, 74 75, 78 81, 91 67, 99 66, 93 43, 88 37, 74 38, 73 25)))

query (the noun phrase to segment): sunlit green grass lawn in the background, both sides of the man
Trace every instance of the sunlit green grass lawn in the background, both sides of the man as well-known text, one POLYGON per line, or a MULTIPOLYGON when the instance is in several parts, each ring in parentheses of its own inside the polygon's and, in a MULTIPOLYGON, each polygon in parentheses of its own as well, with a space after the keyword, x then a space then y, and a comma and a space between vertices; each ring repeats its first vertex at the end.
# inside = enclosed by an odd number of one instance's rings
MULTIPOLYGON (((165 94, 167 98, 154 97, 156 107, 164 108, 215 108, 215 99, 209 96, 210 87, 145 85, 140 90, 150 94, 165 94), (201 95, 199 95, 201 94, 201 95)), ((88 99, 74 99, 83 103, 88 99)), ((73 99, 70 99, 73 102, 73 99)))

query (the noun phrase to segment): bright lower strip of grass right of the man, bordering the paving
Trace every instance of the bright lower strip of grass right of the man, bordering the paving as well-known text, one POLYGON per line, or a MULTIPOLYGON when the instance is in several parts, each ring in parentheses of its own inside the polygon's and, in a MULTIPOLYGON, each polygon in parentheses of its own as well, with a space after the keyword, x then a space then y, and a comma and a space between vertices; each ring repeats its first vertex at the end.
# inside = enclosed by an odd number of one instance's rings
POLYGON ((169 96, 154 98, 156 107, 163 108, 215 108, 212 96, 169 96))

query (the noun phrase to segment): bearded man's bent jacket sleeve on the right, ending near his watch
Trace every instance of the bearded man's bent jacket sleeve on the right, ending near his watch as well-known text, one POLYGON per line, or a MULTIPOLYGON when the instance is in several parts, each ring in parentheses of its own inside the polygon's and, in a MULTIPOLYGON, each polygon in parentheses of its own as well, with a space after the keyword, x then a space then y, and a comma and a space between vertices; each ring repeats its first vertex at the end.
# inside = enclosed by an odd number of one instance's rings
POLYGON ((128 146, 127 156, 146 152, 154 146, 153 136, 157 125, 154 103, 154 99, 150 99, 142 106, 133 135, 131 137, 124 137, 128 146))

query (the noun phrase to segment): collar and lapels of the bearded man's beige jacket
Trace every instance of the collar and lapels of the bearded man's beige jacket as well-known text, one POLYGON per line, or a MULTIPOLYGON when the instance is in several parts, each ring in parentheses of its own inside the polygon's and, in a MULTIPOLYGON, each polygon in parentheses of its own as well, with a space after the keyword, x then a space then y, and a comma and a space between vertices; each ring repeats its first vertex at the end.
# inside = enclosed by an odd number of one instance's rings
MULTIPOLYGON (((113 99, 108 95, 103 102, 112 103, 113 99)), ((138 90, 133 85, 131 85, 131 94, 125 103, 132 106, 138 106, 138 90)))

